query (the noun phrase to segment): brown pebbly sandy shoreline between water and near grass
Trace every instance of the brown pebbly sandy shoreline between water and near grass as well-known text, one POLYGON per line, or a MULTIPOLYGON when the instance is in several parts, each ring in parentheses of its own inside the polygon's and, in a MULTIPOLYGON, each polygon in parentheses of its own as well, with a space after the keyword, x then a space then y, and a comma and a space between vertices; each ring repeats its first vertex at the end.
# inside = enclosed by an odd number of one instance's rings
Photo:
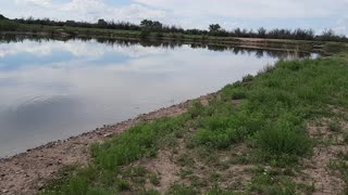
MULTIPOLYGON (((207 100, 211 94, 195 100, 207 100)), ((139 115, 116 125, 97 128, 94 131, 59 140, 25 153, 0 159, 0 194, 36 194, 44 182, 50 179, 63 166, 72 164, 85 165, 88 162, 88 146, 95 142, 103 142, 107 138, 121 133, 129 127, 161 117, 179 115, 188 108, 194 100, 160 108, 139 115)))

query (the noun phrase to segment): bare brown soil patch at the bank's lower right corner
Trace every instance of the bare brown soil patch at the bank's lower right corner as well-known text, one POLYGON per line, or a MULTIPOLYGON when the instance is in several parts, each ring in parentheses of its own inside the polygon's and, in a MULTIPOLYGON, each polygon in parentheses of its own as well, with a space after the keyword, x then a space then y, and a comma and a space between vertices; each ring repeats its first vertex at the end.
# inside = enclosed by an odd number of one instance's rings
POLYGON ((339 132, 332 132, 328 128, 330 119, 322 119, 323 125, 310 125, 310 136, 316 142, 313 155, 303 160, 307 183, 314 185, 314 195, 343 194, 345 182, 338 171, 330 169, 330 162, 337 159, 338 153, 348 154, 339 132))

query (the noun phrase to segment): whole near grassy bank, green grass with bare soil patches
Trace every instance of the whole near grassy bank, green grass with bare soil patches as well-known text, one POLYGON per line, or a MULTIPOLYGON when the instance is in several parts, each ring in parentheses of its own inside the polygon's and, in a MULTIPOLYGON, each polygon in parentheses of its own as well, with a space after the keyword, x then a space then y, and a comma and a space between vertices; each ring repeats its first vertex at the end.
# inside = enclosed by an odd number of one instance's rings
POLYGON ((316 168, 348 182, 347 78, 344 52, 281 61, 179 116, 92 144, 88 166, 64 167, 40 193, 311 194, 316 168))

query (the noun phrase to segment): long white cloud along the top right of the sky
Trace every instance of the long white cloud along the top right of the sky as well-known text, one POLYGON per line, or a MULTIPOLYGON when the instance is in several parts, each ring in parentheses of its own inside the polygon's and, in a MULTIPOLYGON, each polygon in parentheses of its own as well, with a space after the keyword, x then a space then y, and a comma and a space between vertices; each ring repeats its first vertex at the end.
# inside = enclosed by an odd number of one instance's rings
POLYGON ((327 17, 347 8, 347 0, 135 0, 185 15, 215 15, 244 18, 327 17))

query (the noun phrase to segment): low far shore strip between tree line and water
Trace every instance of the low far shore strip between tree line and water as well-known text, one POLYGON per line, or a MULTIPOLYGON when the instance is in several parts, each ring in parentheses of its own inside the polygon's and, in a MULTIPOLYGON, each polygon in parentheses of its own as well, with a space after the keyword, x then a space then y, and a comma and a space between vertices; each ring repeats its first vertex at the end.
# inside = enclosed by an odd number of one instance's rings
POLYGON ((177 36, 172 37, 164 34, 163 37, 156 37, 154 35, 144 39, 139 34, 130 34, 124 31, 112 31, 109 34, 87 34, 85 31, 65 31, 58 30, 49 31, 1 31, 0 35, 22 35, 35 36, 38 38, 51 38, 57 40, 69 40, 74 38, 80 39, 105 39, 105 40, 129 40, 129 41, 145 41, 145 42, 164 42, 164 43, 182 43, 182 44, 202 44, 202 46, 217 46, 217 47, 238 47, 246 49, 262 49, 272 51, 286 52, 308 52, 322 53, 323 47, 326 42, 308 41, 308 40, 286 40, 286 39, 262 39, 262 38, 222 38, 222 37, 202 37, 202 36, 177 36))

